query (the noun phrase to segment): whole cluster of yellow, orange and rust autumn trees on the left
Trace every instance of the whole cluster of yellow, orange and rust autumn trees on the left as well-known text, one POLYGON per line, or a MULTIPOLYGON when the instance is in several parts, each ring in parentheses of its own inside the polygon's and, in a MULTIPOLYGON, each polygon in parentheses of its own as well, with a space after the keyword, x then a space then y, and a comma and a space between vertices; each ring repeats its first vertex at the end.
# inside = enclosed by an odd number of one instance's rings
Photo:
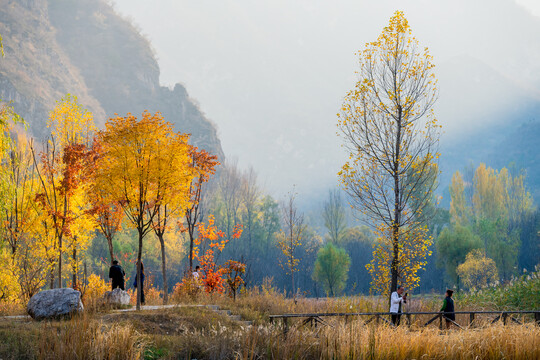
POLYGON ((219 164, 216 157, 188 144, 189 135, 175 132, 160 113, 117 116, 97 131, 92 114, 69 94, 51 111, 48 126, 51 135, 41 149, 22 130, 3 142, 11 159, 2 168, 10 199, 5 228, 11 259, 0 274, 5 288, 10 294, 26 289, 28 298, 46 282, 64 286, 68 272, 70 285, 80 288, 81 259, 94 232, 107 239, 112 261, 122 223, 137 230, 138 272, 145 236, 154 232, 160 240, 166 287, 164 234, 184 218, 192 230, 197 225, 192 215, 201 185, 219 164))

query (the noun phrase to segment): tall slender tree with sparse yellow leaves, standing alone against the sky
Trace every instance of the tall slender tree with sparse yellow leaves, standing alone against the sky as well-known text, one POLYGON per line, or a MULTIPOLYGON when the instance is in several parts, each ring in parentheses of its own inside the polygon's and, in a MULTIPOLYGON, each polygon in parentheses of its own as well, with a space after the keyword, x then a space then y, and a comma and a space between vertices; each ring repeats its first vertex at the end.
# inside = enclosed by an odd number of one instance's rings
POLYGON ((395 291, 402 263, 412 261, 400 256, 401 245, 407 232, 422 229, 418 224, 437 184, 433 171, 440 126, 432 111, 437 98, 434 65, 428 49, 419 49, 401 11, 359 58, 360 79, 338 114, 349 151, 339 176, 352 205, 389 236, 389 278, 381 281, 395 291))

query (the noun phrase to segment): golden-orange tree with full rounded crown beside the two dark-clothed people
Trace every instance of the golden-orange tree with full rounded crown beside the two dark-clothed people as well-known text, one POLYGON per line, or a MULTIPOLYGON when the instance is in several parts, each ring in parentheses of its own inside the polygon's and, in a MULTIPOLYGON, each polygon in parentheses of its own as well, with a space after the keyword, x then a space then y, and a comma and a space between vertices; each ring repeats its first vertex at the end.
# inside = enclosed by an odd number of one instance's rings
MULTIPOLYGON (((188 136, 175 133, 160 113, 145 111, 140 120, 131 114, 109 119, 98 138, 101 156, 94 181, 122 206, 137 230, 137 289, 141 289, 143 239, 164 224, 163 218, 157 222, 154 218, 166 205, 174 209, 189 199, 193 174, 188 166, 188 136)), ((140 302, 137 291, 138 310, 140 302)))

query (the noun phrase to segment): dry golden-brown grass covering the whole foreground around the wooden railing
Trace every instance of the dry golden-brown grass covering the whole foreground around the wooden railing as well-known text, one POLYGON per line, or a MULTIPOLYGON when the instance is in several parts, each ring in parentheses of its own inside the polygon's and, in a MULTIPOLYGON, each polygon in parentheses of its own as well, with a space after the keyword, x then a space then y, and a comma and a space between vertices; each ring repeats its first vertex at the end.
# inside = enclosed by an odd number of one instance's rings
MULTIPOLYGON (((330 326, 292 324, 286 338, 268 314, 384 311, 377 298, 300 299, 273 290, 227 297, 176 299, 229 308, 246 326, 210 309, 180 306, 142 312, 88 311, 65 321, 0 319, 0 359, 538 359, 540 327, 494 324, 440 331, 436 326, 390 328, 361 321, 330 326)), ((433 310, 437 301, 417 301, 433 310)))

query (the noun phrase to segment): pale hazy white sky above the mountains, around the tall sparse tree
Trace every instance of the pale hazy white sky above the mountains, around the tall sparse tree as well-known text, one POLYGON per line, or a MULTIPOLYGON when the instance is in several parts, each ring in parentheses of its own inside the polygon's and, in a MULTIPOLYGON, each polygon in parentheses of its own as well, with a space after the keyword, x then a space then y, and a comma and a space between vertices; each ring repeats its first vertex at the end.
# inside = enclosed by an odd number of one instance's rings
POLYGON ((434 55, 443 141, 523 93, 540 99, 538 0, 114 2, 152 42, 162 84, 184 84, 225 154, 253 165, 275 195, 337 183, 346 156, 336 113, 355 83, 355 53, 396 10, 434 55))

